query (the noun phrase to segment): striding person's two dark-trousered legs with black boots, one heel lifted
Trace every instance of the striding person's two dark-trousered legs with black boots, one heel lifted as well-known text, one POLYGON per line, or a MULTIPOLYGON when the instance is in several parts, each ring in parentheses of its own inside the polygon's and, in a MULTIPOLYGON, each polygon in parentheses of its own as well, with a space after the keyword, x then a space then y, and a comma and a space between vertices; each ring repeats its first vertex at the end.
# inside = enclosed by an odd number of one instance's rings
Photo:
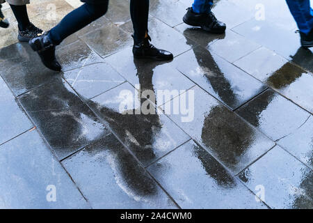
MULTIPOLYGON (((51 70, 61 70, 61 65, 55 56, 56 45, 59 45, 67 36, 97 20, 108 10, 109 0, 81 1, 85 2, 83 6, 67 14, 44 36, 34 38, 29 42, 33 50, 38 52, 45 66, 51 70)), ((134 56, 159 60, 172 59, 170 52, 157 49, 150 44, 151 38, 147 34, 149 0, 131 0, 130 3, 131 20, 134 24, 134 56)))

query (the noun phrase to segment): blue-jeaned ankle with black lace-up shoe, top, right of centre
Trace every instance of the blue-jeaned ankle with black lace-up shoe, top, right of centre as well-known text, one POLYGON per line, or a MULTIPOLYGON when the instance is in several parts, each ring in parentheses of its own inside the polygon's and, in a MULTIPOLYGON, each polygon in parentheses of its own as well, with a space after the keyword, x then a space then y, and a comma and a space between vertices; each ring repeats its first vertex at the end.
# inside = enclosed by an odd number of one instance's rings
POLYGON ((211 12, 213 0, 195 0, 193 6, 188 8, 184 15, 184 23, 191 26, 200 26, 210 33, 224 33, 226 25, 216 19, 211 12))

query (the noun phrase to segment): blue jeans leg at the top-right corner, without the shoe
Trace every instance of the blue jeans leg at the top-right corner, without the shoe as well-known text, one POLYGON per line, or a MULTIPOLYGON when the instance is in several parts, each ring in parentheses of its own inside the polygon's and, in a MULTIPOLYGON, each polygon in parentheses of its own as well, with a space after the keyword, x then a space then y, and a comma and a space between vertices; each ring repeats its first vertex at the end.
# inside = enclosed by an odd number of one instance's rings
POLYGON ((310 0, 286 0, 291 14, 301 32, 307 34, 313 28, 313 10, 310 0))

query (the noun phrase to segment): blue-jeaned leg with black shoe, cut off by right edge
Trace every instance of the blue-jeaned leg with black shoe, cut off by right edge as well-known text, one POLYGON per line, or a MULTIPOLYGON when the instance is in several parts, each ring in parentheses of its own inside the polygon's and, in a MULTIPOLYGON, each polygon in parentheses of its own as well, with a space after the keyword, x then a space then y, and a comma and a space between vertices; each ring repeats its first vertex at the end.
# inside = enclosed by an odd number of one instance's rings
POLYGON ((313 10, 310 0, 286 0, 298 25, 303 47, 313 47, 313 10))

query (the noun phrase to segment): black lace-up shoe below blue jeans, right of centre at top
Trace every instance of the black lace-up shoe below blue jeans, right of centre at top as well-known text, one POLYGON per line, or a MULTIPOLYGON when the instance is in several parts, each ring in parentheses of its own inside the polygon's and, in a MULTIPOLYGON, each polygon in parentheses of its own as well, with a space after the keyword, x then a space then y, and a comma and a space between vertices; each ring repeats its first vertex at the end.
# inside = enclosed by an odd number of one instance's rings
POLYGON ((183 21, 190 26, 200 26, 210 33, 222 34, 226 29, 226 24, 218 21, 212 12, 198 14, 193 12, 193 8, 187 8, 183 21))

